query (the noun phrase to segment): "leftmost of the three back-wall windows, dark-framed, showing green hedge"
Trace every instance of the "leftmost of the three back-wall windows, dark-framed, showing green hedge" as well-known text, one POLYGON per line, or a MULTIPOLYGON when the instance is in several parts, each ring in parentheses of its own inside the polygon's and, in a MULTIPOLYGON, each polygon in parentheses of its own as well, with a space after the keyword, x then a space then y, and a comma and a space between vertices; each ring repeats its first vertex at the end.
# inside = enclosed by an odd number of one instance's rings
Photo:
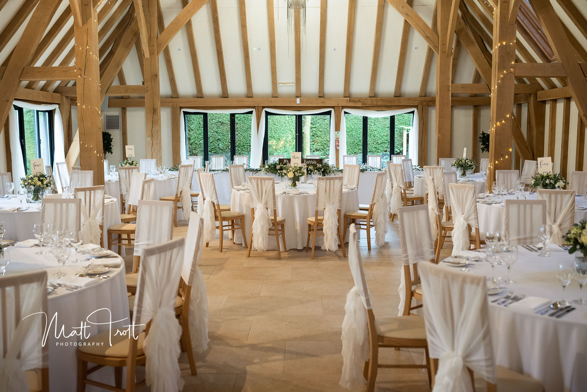
POLYGON ((248 113, 184 112, 186 156, 199 155, 204 161, 223 155, 226 164, 235 155, 251 159, 252 111, 248 113))

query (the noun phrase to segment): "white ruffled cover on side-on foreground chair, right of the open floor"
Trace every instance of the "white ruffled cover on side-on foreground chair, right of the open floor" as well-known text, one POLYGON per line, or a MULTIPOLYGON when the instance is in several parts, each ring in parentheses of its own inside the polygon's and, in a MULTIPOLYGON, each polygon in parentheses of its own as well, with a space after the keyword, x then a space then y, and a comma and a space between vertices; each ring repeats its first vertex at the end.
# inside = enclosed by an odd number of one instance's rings
POLYGON ((355 286, 346 295, 345 318, 342 320, 342 376, 340 386, 354 389, 366 383, 363 376, 365 361, 369 360, 369 329, 367 309, 371 309, 369 287, 359 251, 355 224, 349 228, 349 267, 355 286))

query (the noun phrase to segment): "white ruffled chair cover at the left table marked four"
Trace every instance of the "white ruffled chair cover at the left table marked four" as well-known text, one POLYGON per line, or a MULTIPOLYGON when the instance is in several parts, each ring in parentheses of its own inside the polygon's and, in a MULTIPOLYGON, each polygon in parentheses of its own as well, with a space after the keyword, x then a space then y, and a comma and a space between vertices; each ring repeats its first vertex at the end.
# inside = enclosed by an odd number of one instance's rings
POLYGON ((75 198, 82 201, 83 244, 100 244, 100 225, 104 226, 104 185, 75 188, 75 198))

